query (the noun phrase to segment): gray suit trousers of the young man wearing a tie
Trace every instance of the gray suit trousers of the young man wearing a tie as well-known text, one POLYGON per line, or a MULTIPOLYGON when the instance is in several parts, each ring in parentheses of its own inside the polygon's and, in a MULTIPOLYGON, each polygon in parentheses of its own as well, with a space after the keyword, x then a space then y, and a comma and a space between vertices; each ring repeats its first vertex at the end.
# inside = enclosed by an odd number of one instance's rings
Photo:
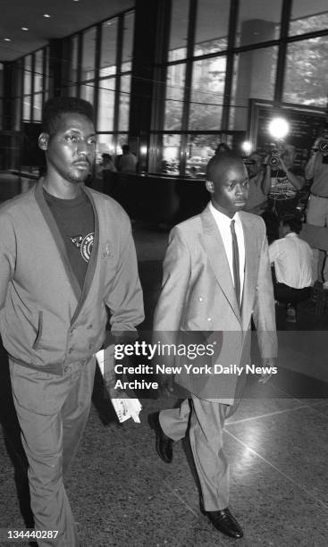
MULTIPOLYGON (((223 427, 225 418, 236 408, 237 405, 191 396, 189 440, 206 511, 229 505, 229 464, 223 452, 223 427)), ((180 441, 186 434, 189 414, 189 400, 184 400, 180 408, 162 410, 159 421, 164 433, 173 441, 180 441)))

